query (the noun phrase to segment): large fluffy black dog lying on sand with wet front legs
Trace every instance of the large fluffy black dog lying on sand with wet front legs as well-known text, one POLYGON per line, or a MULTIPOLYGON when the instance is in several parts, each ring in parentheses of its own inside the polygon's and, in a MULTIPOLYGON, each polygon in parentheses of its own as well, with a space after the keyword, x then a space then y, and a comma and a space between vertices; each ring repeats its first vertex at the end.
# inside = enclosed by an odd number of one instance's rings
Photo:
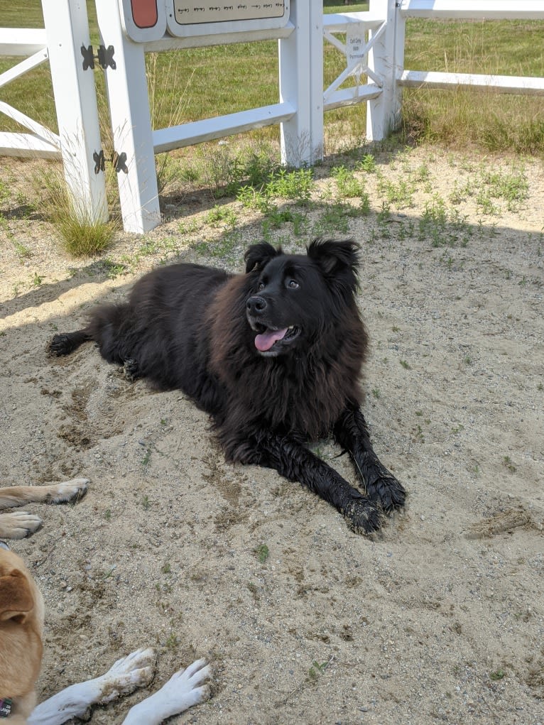
POLYGON ((370 532, 403 505, 380 463, 359 405, 367 334, 355 304, 358 245, 316 240, 307 254, 255 244, 246 274, 201 265, 154 270, 128 302, 104 305, 88 326, 55 335, 51 355, 87 340, 110 363, 162 390, 183 390, 210 413, 228 460, 275 468, 370 532), (304 443, 334 434, 366 495, 304 443))

